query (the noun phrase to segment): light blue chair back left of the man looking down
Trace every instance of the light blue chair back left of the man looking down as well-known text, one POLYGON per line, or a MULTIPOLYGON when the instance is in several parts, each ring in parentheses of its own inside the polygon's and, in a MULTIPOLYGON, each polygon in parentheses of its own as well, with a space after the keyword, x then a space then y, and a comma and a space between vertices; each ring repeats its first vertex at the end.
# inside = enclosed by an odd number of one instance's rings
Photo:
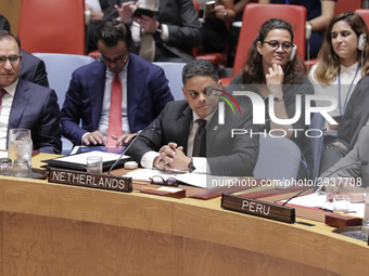
MULTIPOLYGON (((65 93, 69 87, 72 73, 78 67, 87 65, 94 60, 87 55, 75 54, 34 53, 34 55, 43 61, 48 73, 49 86, 55 91, 59 107, 62 109, 65 93)), ((62 154, 71 154, 73 148, 72 142, 62 136, 62 154)))

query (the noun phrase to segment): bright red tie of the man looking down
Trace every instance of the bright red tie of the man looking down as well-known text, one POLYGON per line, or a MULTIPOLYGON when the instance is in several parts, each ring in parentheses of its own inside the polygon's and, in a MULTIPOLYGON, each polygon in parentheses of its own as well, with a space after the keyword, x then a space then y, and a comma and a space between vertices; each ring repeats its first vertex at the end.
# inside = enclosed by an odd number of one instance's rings
POLYGON ((111 94, 111 109, 109 113, 109 126, 107 126, 107 144, 106 146, 115 146, 116 140, 112 139, 112 135, 122 136, 122 81, 118 74, 115 75, 112 82, 111 94))

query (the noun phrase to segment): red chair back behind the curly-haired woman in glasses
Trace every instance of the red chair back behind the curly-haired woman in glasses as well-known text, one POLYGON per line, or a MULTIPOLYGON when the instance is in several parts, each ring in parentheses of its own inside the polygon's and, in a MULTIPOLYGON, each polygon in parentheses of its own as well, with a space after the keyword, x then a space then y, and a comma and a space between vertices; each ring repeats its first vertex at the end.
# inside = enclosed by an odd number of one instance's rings
POLYGON ((233 65, 233 77, 240 74, 262 25, 266 21, 276 17, 291 24, 294 34, 293 43, 297 45, 297 56, 303 61, 305 60, 305 6, 249 3, 243 11, 242 27, 233 65))

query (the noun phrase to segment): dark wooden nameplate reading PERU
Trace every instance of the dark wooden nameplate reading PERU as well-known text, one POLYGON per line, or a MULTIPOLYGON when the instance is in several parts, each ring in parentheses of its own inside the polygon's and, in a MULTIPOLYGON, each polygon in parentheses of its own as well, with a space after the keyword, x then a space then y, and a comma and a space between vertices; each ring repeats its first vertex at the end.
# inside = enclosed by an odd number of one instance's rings
POLYGON ((221 195, 221 207, 232 211, 262 216, 280 222, 294 223, 295 209, 230 194, 221 195))

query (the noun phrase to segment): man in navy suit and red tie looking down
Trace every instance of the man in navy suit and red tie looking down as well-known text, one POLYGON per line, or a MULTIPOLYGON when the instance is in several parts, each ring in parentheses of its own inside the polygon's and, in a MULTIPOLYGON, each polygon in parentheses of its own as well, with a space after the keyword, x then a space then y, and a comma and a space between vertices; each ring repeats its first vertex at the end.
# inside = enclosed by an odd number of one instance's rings
POLYGON ((174 97, 163 69, 128 52, 131 34, 124 23, 101 22, 97 41, 101 58, 73 73, 62 108, 63 135, 75 145, 118 146, 144 129, 174 97), (119 92, 113 93, 117 82, 119 92), (111 116, 115 96, 122 97, 116 107, 122 111, 111 116), (120 126, 113 133, 114 118, 120 126))

